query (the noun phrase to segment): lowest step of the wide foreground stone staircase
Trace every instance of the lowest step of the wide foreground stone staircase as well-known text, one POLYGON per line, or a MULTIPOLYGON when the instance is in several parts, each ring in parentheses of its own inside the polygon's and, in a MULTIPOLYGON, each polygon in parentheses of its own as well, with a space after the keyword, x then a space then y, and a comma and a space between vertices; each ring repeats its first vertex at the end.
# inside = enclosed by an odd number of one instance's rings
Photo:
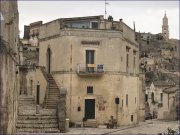
POLYGON ((44 128, 44 129, 32 129, 32 128, 21 128, 17 129, 17 133, 59 133, 58 128, 44 128))

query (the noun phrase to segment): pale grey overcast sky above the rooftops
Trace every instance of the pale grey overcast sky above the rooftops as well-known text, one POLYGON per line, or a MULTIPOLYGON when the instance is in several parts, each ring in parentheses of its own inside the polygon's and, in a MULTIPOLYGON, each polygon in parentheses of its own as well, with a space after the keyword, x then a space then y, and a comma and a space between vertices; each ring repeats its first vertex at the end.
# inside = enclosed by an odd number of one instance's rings
MULTIPOLYGON (((107 16, 120 18, 136 31, 161 33, 165 11, 170 38, 179 39, 179 1, 107 1, 107 16)), ((105 1, 18 1, 20 35, 24 25, 57 18, 104 15, 105 1)))

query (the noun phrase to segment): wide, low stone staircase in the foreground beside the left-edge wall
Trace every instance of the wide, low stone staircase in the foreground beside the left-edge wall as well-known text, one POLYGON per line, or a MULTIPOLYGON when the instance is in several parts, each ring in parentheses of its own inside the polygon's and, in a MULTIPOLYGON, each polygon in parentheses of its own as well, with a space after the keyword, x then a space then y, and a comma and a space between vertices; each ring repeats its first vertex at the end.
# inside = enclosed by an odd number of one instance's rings
POLYGON ((32 96, 19 97, 17 133, 59 133, 56 109, 40 108, 36 114, 35 100, 32 96))

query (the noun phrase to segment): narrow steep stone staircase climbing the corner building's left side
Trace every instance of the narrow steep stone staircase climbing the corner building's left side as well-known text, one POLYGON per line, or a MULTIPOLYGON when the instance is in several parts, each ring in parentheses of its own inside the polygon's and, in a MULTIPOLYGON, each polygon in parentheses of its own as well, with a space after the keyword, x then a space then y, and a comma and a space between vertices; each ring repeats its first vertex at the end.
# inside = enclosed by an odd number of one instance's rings
POLYGON ((56 109, 57 103, 60 99, 60 91, 52 75, 48 74, 47 77, 48 77, 48 82, 49 82, 49 90, 47 93, 48 96, 46 99, 46 108, 56 109))

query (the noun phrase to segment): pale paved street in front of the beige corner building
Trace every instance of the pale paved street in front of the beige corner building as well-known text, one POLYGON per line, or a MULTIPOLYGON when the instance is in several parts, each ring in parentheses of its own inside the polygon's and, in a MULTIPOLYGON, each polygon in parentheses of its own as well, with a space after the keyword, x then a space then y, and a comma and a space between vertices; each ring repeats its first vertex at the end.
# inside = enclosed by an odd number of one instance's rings
POLYGON ((70 128, 66 134, 158 134, 167 133, 167 128, 178 131, 178 121, 147 120, 139 125, 124 126, 117 129, 70 128))

